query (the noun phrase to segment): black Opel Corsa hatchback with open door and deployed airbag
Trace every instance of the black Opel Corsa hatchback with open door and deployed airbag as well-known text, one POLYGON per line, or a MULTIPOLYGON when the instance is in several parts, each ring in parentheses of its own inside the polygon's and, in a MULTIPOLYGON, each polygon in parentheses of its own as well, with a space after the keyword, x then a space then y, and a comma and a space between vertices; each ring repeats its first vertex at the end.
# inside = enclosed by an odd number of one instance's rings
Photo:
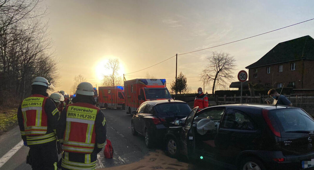
POLYGON ((314 120, 304 110, 273 105, 220 105, 176 120, 165 137, 171 157, 228 169, 312 169, 314 120))

